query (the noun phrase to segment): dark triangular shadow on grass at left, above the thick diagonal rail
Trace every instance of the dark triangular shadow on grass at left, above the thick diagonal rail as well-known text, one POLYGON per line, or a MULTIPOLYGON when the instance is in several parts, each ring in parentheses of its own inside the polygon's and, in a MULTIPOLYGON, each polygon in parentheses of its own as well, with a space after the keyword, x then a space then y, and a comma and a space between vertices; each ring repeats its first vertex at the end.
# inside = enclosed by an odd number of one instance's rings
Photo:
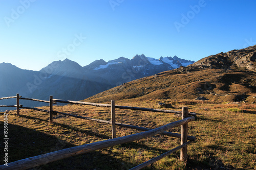
MULTIPOLYGON (((3 122, 0 122, 0 126, 4 126, 3 122)), ((0 133, 4 134, 3 128, 0 133)), ((55 136, 13 124, 8 124, 8 138, 8 162, 74 147, 55 136)), ((4 148, 3 142, 0 147, 4 148)), ((4 150, 0 153, 3 155, 4 150)))

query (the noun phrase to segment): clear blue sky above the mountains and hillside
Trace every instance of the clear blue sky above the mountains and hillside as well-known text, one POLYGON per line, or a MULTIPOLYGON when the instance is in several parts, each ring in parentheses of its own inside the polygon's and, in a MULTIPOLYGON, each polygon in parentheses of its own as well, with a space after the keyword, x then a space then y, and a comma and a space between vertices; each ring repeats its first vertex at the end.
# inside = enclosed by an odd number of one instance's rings
POLYGON ((199 60, 256 44, 256 1, 0 0, 0 63, 199 60), (245 3, 246 2, 246 3, 245 3))

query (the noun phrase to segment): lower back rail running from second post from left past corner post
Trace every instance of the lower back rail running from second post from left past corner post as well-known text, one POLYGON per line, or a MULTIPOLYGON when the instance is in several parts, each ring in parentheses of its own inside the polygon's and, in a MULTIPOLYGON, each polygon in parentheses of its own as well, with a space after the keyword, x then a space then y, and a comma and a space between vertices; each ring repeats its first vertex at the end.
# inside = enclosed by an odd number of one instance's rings
MULTIPOLYGON (((58 111, 53 111, 53 112, 54 112, 54 113, 63 114, 63 115, 72 116, 72 117, 76 117, 76 118, 82 118, 82 119, 92 120, 92 121, 95 121, 95 122, 101 122, 101 123, 110 124, 110 125, 112 124, 112 122, 111 122, 111 121, 108 121, 108 120, 101 120, 101 119, 96 119, 96 118, 83 117, 83 116, 78 116, 78 115, 69 114, 69 113, 62 113, 62 112, 58 112, 58 111)), ((150 128, 144 128, 144 127, 133 126, 133 125, 127 125, 127 124, 121 124, 121 123, 116 123, 116 126, 125 127, 125 128, 130 128, 130 129, 136 129, 136 130, 141 130, 141 131, 150 131, 150 130, 152 130, 152 129, 150 129, 150 128)), ((181 138, 181 134, 179 134, 179 133, 163 132, 162 134, 163 134, 163 135, 166 135, 166 136, 181 138)), ((190 141, 195 141, 195 140, 196 140, 196 137, 195 137, 195 136, 187 136, 187 139, 190 140, 190 141)))

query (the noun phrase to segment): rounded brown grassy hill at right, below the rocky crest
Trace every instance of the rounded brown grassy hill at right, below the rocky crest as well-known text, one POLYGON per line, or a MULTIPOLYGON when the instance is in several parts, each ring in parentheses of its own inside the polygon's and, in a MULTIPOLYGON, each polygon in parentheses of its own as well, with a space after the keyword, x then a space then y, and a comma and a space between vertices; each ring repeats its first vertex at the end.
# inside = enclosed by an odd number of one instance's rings
POLYGON ((198 96, 221 102, 243 99, 249 103, 255 102, 253 96, 256 96, 256 73, 185 67, 125 83, 96 94, 88 100, 92 102, 106 102, 110 98, 191 100, 198 96))

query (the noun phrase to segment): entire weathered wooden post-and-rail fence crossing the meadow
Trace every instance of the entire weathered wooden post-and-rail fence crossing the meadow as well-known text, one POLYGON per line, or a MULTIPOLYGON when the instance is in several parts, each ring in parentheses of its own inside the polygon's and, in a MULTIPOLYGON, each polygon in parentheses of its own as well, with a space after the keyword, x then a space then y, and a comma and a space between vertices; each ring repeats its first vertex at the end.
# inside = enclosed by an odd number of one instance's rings
POLYGON ((7 98, 0 98, 0 100, 4 99, 11 99, 11 98, 16 98, 16 105, 3 105, 0 107, 16 107, 17 109, 17 116, 19 116, 19 109, 24 108, 24 109, 32 109, 36 111, 41 111, 41 112, 47 112, 49 113, 49 123, 53 123, 53 114, 63 114, 63 115, 68 115, 68 116, 73 116, 76 118, 82 118, 82 119, 88 119, 88 120, 93 120, 96 122, 101 122, 101 123, 106 123, 106 124, 111 124, 112 125, 112 139, 109 140, 104 140, 104 141, 98 141, 90 144, 84 144, 80 145, 78 147, 72 147, 68 149, 63 149, 51 153, 47 153, 44 155, 38 155, 22 160, 18 160, 15 162, 8 163, 8 166, 6 165, 0 165, 0 169, 5 168, 5 169, 27 169, 35 166, 39 166, 42 164, 49 162, 54 162, 60 159, 68 158, 70 156, 74 155, 79 155, 79 154, 84 154, 88 152, 92 152, 95 150, 103 149, 103 148, 109 148, 113 147, 114 145, 122 144, 122 143, 127 143, 127 142, 132 142, 135 140, 147 138, 147 137, 152 137, 157 134, 163 134, 167 136, 172 136, 172 137, 177 137, 181 138, 181 145, 178 147, 156 157, 153 158, 149 161, 146 161, 138 166, 135 166, 131 169, 141 169, 143 167, 146 167, 147 165, 150 165, 172 153, 174 153, 177 150, 181 150, 180 153, 180 159, 182 161, 186 161, 187 159, 187 145, 191 141, 195 141, 196 137, 194 136, 188 136, 187 135, 187 129, 188 125, 187 123, 195 120, 196 113, 188 112, 188 107, 182 107, 182 111, 175 111, 175 110, 162 110, 162 109, 149 109, 149 108, 139 108, 139 107, 130 107, 130 106, 118 106, 115 105, 115 101, 111 101, 111 105, 108 104, 97 104, 97 103, 88 103, 88 102, 79 102, 79 101, 66 101, 66 100, 59 100, 59 99, 53 99, 53 96, 50 96, 49 101, 44 101, 44 100, 38 100, 38 99, 31 99, 31 98, 22 98, 22 96, 19 96, 17 94, 16 96, 11 96, 7 98), (45 102, 49 103, 49 110, 44 110, 44 109, 38 109, 38 108, 30 108, 30 107, 24 107, 22 105, 19 105, 19 100, 31 100, 31 101, 38 101, 38 102, 45 102), (67 103, 67 104, 79 104, 79 105, 92 105, 92 106, 97 106, 97 107, 110 107, 111 108, 111 121, 106 121, 106 120, 101 120, 101 119, 95 119, 95 118, 90 118, 90 117, 83 117, 83 116, 78 116, 78 115, 73 115, 73 114, 68 114, 68 113, 62 113, 58 111, 53 111, 53 103, 67 103), (144 127, 139 127, 139 126, 133 126, 133 125, 127 125, 127 124, 121 124, 121 123, 116 123, 115 121, 115 108, 119 109, 131 109, 131 110, 142 110, 142 111, 152 111, 152 112, 164 112, 164 113, 176 113, 176 114, 181 114, 182 119, 178 120, 173 123, 169 123, 167 125, 164 125, 162 127, 156 128, 156 129, 149 129, 149 128, 144 128, 144 127), (191 116, 189 116, 191 115, 191 116), (136 130, 141 130, 145 132, 140 132, 136 133, 133 135, 128 135, 128 136, 123 136, 123 137, 116 137, 116 126, 120 127, 126 127, 126 128, 131 128, 131 129, 136 129, 136 130), (181 134, 178 133, 173 133, 173 132, 166 132, 166 130, 179 127, 181 126, 181 134), (189 140, 189 141, 188 141, 189 140), (54 155, 54 156, 53 156, 54 155))

